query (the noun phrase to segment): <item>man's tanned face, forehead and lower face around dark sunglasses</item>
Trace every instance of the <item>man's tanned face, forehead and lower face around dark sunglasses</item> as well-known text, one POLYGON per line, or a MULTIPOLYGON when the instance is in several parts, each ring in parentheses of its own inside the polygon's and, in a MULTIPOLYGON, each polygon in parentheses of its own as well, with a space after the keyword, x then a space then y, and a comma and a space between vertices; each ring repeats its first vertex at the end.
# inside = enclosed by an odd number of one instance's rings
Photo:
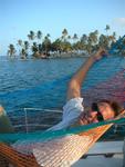
POLYGON ((98 112, 102 116, 103 120, 113 119, 115 117, 114 110, 111 108, 111 106, 107 102, 98 102, 97 104, 98 111, 97 110, 90 110, 88 115, 82 114, 80 117, 80 124, 81 125, 87 125, 91 122, 98 122, 98 112))

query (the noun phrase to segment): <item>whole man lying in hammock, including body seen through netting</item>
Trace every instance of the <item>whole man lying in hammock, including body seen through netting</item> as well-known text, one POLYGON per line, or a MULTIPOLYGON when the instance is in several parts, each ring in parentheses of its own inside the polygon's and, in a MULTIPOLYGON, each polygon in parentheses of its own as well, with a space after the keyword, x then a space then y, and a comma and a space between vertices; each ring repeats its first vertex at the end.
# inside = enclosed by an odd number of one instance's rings
MULTIPOLYGON (((106 53, 106 51, 100 49, 95 55, 90 57, 72 77, 67 87, 67 101, 63 107, 62 121, 49 130, 59 130, 71 126, 75 127, 77 125, 113 119, 123 110, 117 102, 100 100, 92 104, 90 111, 84 111, 83 98, 81 97, 82 84, 88 69, 96 60, 100 60, 104 53, 106 53)), ((93 137, 88 135, 81 136, 72 134, 43 144, 41 143, 40 145, 38 144, 38 146, 33 146, 30 150, 33 149, 33 155, 41 166, 70 167, 81 158, 92 143, 93 137)))

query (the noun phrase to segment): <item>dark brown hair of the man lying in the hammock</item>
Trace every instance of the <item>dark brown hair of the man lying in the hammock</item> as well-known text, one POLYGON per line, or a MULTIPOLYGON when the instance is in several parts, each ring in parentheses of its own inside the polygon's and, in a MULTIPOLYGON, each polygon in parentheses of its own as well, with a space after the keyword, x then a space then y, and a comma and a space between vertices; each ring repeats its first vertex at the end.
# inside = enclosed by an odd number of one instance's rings
POLYGON ((114 100, 101 99, 97 101, 97 104, 98 102, 108 104, 111 106, 111 108, 114 110, 115 116, 119 115, 124 110, 124 107, 114 100))

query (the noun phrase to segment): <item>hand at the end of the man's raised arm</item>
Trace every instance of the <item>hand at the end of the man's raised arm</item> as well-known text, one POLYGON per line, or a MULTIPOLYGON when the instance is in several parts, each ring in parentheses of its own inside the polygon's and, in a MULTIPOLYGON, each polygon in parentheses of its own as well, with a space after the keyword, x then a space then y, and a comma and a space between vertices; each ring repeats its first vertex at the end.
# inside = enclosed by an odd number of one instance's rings
POLYGON ((94 53, 93 58, 96 60, 100 60, 103 58, 103 56, 107 55, 107 51, 104 48, 100 48, 96 53, 94 53))

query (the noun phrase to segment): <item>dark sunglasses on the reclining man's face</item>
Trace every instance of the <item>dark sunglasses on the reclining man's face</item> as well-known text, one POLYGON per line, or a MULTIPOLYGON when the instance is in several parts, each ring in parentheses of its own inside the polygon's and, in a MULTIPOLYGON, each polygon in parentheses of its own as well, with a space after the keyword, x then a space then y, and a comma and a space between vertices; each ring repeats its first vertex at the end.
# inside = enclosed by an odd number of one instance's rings
POLYGON ((96 115, 97 120, 98 120, 98 121, 103 121, 104 118, 103 118, 103 115, 100 112, 97 102, 93 102, 91 108, 92 108, 93 111, 97 111, 97 115, 96 115))

